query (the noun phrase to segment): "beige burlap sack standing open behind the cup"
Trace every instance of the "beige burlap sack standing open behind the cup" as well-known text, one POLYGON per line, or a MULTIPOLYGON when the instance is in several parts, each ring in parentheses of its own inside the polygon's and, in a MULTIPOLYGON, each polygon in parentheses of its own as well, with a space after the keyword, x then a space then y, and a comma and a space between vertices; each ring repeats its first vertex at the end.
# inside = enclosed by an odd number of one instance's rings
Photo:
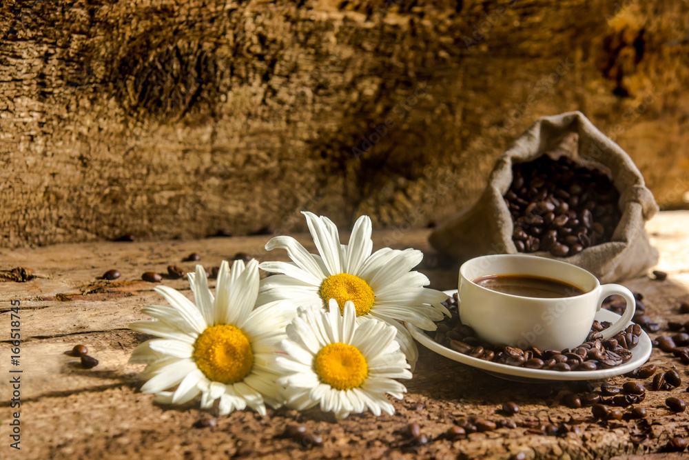
POLYGON ((610 172, 619 190, 621 220, 612 241, 570 257, 549 252, 533 255, 573 263, 595 274, 602 283, 638 277, 658 261, 644 225, 657 212, 652 193, 632 159, 581 112, 568 112, 536 121, 498 159, 480 199, 431 234, 431 245, 460 261, 485 254, 517 254, 513 223, 503 195, 512 183, 512 163, 533 161, 544 154, 562 155, 582 166, 610 172))

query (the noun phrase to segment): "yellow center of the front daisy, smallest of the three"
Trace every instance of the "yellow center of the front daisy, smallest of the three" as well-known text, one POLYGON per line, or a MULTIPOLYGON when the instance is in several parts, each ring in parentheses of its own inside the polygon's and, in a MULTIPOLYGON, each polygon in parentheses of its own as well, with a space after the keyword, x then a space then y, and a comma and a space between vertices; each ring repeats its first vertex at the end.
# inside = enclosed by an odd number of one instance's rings
POLYGON ((329 343, 321 348, 313 359, 313 367, 322 383, 337 390, 358 388, 369 376, 364 355, 346 343, 329 343))

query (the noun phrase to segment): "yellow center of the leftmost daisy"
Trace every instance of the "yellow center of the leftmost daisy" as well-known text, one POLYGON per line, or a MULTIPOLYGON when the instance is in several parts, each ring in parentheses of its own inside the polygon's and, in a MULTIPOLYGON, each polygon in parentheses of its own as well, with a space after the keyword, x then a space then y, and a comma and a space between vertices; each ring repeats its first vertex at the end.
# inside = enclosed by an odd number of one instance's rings
POLYGON ((254 366, 251 342, 239 328, 210 326, 194 342, 194 361, 208 379, 232 384, 247 377, 254 366))

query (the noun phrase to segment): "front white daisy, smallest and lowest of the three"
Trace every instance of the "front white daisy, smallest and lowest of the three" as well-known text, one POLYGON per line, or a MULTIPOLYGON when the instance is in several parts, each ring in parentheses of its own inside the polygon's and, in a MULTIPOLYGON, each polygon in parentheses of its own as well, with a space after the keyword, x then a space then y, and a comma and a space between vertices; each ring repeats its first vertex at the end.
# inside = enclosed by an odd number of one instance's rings
POLYGON ((402 399, 407 392, 393 379, 411 379, 409 364, 395 341, 395 328, 373 319, 356 320, 356 307, 335 300, 329 312, 300 309, 287 326, 280 344, 287 355, 278 357, 287 404, 297 410, 316 405, 338 419, 367 408, 394 414, 385 393, 402 399))

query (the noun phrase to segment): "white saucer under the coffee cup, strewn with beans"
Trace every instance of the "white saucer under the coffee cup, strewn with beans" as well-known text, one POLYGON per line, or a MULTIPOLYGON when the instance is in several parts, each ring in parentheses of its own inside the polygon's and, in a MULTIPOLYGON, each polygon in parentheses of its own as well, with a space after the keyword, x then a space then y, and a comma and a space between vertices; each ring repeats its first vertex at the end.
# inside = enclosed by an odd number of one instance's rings
MULTIPOLYGON (((457 292, 457 290, 448 290, 444 292, 448 294, 448 296, 451 296, 457 292)), ((596 313, 595 318, 598 321, 610 321, 611 323, 614 323, 617 321, 617 319, 619 319, 619 314, 611 312, 610 310, 600 310, 596 313)), ((627 372, 635 370, 644 364, 648 360, 648 357, 650 357, 652 348, 648 334, 642 330, 641 335, 639 336, 639 344, 631 350, 632 359, 626 363, 610 369, 582 371, 572 370, 568 372, 560 372, 557 370, 517 368, 515 366, 508 366, 506 364, 493 363, 491 361, 485 361, 484 359, 470 357, 468 354, 455 352, 455 350, 442 346, 440 343, 426 335, 424 330, 421 330, 409 323, 404 323, 404 326, 407 326, 407 329, 409 332, 411 332, 411 335, 414 337, 414 339, 416 339, 426 348, 429 348, 429 350, 433 350, 434 352, 441 354, 446 358, 459 361, 467 366, 483 370, 484 372, 492 374, 495 377, 517 381, 606 379, 607 377, 626 374, 627 372)))

